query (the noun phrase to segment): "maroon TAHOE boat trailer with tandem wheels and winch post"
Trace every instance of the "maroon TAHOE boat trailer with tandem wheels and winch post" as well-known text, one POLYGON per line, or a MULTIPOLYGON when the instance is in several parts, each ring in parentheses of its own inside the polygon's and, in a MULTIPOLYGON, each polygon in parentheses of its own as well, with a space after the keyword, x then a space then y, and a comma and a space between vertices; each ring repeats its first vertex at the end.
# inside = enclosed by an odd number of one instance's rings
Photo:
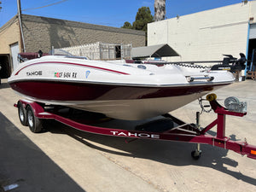
MULTIPOLYGON (((245 142, 232 141, 229 137, 225 137, 225 119, 226 115, 242 117, 247 112, 235 112, 224 108, 216 101, 216 95, 210 94, 207 96, 207 101, 210 103, 214 113, 217 113, 217 119, 206 127, 200 127, 199 125, 199 112, 197 113, 196 124, 187 124, 181 119, 173 117, 171 114, 166 113, 163 116, 166 119, 172 120, 175 126, 168 127, 165 130, 148 129, 147 125, 138 125, 137 129, 132 131, 106 128, 95 125, 87 125, 81 123, 79 120, 70 119, 58 113, 59 106, 51 106, 49 110, 45 104, 39 102, 30 102, 27 100, 19 100, 15 107, 18 108, 20 123, 22 125, 28 125, 32 132, 38 133, 42 131, 42 121, 44 119, 55 119, 62 124, 71 126, 80 131, 87 131, 90 133, 96 133, 113 137, 125 137, 134 139, 155 139, 155 140, 168 140, 176 142, 197 143, 195 151, 191 152, 192 157, 198 160, 201 157, 200 144, 209 144, 217 146, 219 148, 230 149, 241 155, 247 155, 247 157, 256 160, 256 146, 245 142), (216 136, 209 135, 207 131, 212 127, 217 126, 216 136)), ((147 123, 148 124, 148 123, 147 123)), ((150 124, 150 122, 149 122, 150 124)), ((156 125, 153 123, 153 125, 156 125)), ((126 141, 126 140, 125 140, 126 141)), ((130 141, 130 142, 131 142, 130 141)))

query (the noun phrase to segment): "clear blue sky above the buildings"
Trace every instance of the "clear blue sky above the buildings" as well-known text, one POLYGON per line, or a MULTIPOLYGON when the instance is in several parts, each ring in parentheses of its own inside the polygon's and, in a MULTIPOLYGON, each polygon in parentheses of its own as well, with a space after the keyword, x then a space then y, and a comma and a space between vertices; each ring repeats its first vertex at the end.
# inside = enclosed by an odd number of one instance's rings
MULTIPOLYGON (((17 0, 0 0, 0 26, 17 14, 17 0)), ((131 24, 137 10, 149 7, 154 15, 154 0, 20 0, 22 14, 39 15, 63 20, 76 20, 103 26, 131 24), (52 6, 47 6, 53 4, 52 6), (35 9, 40 8, 41 9, 35 9)), ((195 12, 215 9, 241 0, 166 0, 166 17, 189 15, 195 12)))

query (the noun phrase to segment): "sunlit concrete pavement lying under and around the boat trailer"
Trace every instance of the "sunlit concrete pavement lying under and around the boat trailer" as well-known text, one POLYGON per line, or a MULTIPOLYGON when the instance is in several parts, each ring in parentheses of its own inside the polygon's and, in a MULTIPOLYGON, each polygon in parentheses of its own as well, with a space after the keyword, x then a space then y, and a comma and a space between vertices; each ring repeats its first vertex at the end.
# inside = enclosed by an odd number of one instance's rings
MULTIPOLYGON (((6 83, 0 85, 0 186, 17 183, 12 191, 256 191, 256 160, 202 146, 193 160, 193 143, 136 140, 94 135, 48 122, 47 131, 34 134, 20 125, 18 101, 6 83)), ((246 101, 247 116, 228 117, 226 136, 256 145, 256 81, 231 84, 215 92, 219 102, 228 96, 246 101)), ((198 102, 172 112, 195 122, 198 102)), ((201 126, 216 114, 203 113, 201 126)), ((214 131, 214 130, 213 130, 214 131)), ((1 191, 1 189, 0 189, 1 191)))

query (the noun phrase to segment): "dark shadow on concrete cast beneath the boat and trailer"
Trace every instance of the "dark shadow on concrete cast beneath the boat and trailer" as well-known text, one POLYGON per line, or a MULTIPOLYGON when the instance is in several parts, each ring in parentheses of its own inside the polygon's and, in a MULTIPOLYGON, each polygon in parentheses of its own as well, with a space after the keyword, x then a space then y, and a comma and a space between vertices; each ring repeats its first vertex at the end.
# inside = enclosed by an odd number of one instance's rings
MULTIPOLYGON (((238 162, 227 157, 228 150, 224 148, 214 148, 210 145, 201 145, 201 149, 203 151, 201 159, 194 160, 190 156, 191 151, 195 150, 196 147, 194 143, 178 143, 146 139, 137 139, 134 142, 125 143, 124 137, 109 137, 91 134, 75 130, 67 125, 62 125, 55 121, 50 121, 47 126, 48 131, 52 133, 67 134, 80 143, 84 143, 84 145, 102 152, 130 156, 133 158, 155 160, 160 163, 173 166, 195 165, 210 167, 219 172, 224 172, 232 177, 236 177, 236 179, 242 180, 243 182, 256 186, 256 178, 247 177, 241 172, 234 172, 226 167, 236 167, 238 166, 238 162), (106 146, 106 148, 104 148, 104 146, 106 146), (113 149, 109 149, 109 147, 113 149)), ((236 140, 236 136, 232 135, 231 139, 236 140)))

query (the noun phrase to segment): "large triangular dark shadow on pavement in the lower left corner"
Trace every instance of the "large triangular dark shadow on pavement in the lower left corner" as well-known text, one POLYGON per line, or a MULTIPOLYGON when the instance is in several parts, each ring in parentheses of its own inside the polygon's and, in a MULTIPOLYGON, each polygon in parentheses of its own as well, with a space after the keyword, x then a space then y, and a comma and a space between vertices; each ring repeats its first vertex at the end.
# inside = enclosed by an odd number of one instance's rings
POLYGON ((11 191, 84 192, 1 112, 0 122, 0 191, 17 183, 11 191))

